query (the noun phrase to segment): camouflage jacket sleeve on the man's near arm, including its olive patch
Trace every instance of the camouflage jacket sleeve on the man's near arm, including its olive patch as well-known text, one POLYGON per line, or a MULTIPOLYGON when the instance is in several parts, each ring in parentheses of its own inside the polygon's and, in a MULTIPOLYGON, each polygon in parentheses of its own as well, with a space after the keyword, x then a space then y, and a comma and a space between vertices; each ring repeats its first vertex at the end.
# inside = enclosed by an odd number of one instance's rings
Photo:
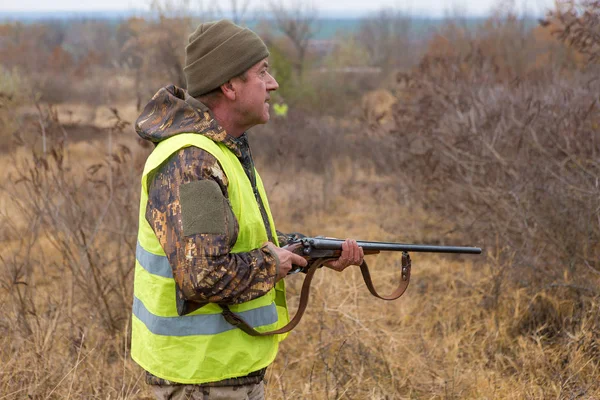
POLYGON ((146 219, 167 255, 182 300, 237 304, 273 288, 278 259, 266 246, 231 253, 239 225, 228 200, 227 177, 213 155, 186 147, 148 179, 146 219))

